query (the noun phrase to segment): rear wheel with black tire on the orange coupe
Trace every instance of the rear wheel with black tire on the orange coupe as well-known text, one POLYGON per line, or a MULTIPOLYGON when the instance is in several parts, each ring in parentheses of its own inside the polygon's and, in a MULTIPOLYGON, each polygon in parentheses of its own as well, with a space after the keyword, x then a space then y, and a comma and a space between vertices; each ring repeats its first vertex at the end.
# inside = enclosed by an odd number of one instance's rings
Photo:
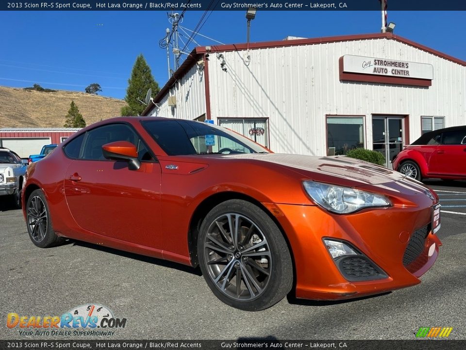
POLYGON ((31 193, 26 204, 26 225, 29 238, 34 245, 40 248, 49 248, 59 245, 64 240, 55 234, 50 220, 50 211, 41 190, 31 193))

